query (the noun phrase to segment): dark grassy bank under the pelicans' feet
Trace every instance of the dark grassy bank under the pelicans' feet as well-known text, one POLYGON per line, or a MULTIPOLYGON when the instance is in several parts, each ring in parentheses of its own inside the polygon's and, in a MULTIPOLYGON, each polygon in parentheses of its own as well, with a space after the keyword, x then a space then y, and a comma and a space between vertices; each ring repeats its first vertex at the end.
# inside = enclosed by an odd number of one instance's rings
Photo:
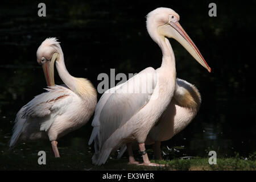
POLYGON ((104 166, 92 164, 92 154, 63 155, 56 159, 47 154, 46 165, 38 164, 36 154, 27 156, 1 155, 0 170, 255 170, 255 159, 217 158, 216 165, 209 165, 208 158, 151 160, 151 162, 166 164, 166 167, 144 167, 127 165, 127 159, 110 158, 104 166))

